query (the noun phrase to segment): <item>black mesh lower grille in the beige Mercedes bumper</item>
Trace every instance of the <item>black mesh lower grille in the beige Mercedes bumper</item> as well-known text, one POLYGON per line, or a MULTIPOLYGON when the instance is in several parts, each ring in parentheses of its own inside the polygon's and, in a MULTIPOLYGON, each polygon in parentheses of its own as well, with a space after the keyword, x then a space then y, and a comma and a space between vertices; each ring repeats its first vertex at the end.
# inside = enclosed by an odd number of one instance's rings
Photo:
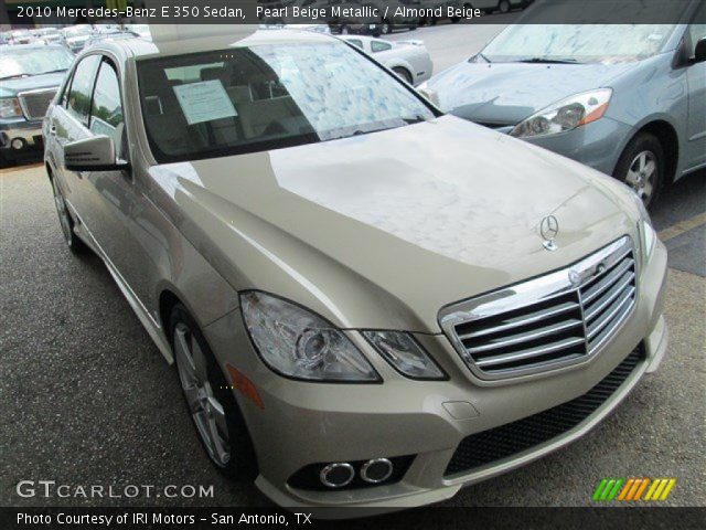
POLYGON ((468 473, 567 433, 596 412, 624 383, 643 358, 644 349, 639 346, 584 395, 516 422, 467 436, 453 453, 445 475, 468 473))

